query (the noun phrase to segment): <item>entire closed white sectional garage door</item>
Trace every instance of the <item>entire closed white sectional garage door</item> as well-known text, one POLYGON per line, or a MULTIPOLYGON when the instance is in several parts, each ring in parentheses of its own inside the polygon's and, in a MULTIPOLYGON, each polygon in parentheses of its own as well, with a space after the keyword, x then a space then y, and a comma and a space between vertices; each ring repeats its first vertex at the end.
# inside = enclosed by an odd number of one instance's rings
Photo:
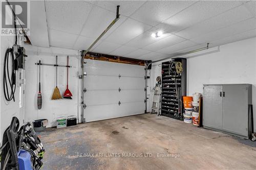
POLYGON ((86 122, 144 113, 144 66, 86 61, 86 122))

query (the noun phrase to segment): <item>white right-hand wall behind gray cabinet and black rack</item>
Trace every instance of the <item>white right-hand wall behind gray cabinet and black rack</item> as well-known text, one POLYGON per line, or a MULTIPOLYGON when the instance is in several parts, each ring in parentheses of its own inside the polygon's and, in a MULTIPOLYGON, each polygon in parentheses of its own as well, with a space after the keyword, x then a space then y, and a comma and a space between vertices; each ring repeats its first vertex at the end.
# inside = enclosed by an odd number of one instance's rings
MULTIPOLYGON (((156 77, 161 75, 159 63, 154 63, 152 67, 152 86, 156 77)), ((187 58, 187 95, 203 93, 203 84, 228 83, 252 84, 256 132, 256 38, 221 45, 216 53, 187 58)))

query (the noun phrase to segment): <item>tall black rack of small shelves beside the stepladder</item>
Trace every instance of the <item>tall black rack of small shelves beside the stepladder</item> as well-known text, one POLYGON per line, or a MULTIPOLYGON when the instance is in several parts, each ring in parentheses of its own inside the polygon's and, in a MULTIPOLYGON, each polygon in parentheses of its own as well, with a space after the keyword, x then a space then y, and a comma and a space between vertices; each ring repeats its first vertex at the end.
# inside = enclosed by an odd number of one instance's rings
POLYGON ((182 96, 186 95, 186 59, 175 58, 162 63, 161 115, 183 120, 182 96), (176 62, 180 62, 177 69, 176 62))

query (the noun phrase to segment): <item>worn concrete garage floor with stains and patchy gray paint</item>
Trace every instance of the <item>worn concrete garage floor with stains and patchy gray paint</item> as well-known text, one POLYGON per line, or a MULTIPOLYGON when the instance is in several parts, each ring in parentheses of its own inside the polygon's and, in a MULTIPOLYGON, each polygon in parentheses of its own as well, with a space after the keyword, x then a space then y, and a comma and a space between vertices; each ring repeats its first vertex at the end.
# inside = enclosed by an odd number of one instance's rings
POLYGON ((255 142, 155 114, 39 135, 46 149, 42 169, 256 169, 255 142))

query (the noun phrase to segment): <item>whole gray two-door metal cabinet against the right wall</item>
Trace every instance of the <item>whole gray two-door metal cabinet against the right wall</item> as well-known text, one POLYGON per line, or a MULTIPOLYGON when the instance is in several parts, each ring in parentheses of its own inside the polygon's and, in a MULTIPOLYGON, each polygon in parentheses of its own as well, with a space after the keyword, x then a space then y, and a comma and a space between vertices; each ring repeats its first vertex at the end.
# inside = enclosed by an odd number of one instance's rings
POLYGON ((248 139, 251 84, 204 85, 203 126, 248 139))

